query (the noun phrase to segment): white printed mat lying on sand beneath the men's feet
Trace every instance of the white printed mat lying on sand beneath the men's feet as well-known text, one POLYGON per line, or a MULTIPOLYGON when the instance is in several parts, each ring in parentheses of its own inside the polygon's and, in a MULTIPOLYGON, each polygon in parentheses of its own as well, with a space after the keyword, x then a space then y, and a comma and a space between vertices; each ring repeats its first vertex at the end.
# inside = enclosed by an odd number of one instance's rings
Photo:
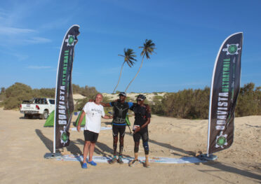
MULTIPOLYGON (((62 161, 83 161, 83 156, 78 155, 62 155, 60 157, 56 157, 56 160, 62 161)), ((109 160, 112 160, 112 157, 102 157, 102 156, 93 156, 94 162, 99 163, 107 163, 109 160)), ((128 163, 133 160, 133 157, 123 157, 123 162, 128 163)), ((145 157, 139 157, 140 162, 145 161, 145 157)), ((150 157, 149 162, 156 162, 162 164, 189 164, 189 163, 198 163, 198 162, 207 162, 204 160, 200 160, 197 157, 181 157, 181 158, 168 158, 168 157, 150 157)))

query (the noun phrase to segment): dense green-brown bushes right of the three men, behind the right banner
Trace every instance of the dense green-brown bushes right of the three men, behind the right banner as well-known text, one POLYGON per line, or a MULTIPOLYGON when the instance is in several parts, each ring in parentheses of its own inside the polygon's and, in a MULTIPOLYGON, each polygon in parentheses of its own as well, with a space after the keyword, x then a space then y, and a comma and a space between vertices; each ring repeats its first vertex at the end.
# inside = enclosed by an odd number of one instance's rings
MULTIPOLYGON (((161 101, 154 100, 152 113, 175 118, 208 119, 210 88, 168 93, 161 101)), ((241 87, 236 105, 236 117, 261 115, 261 87, 248 83, 241 87)))

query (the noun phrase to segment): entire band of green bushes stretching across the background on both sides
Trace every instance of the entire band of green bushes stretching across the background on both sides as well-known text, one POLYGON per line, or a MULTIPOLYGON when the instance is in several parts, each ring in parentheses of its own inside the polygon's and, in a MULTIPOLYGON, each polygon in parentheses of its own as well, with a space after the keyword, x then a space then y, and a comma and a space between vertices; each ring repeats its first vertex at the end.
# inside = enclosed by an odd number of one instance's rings
MULTIPOLYGON (((81 111, 89 99, 94 99, 98 91, 95 87, 79 87, 73 85, 74 94, 85 96, 84 99, 76 101, 75 111, 81 111)), ((182 90, 179 92, 166 93, 162 96, 154 96, 153 101, 145 100, 149 104, 152 113, 175 118, 189 119, 207 119, 209 106, 210 88, 203 90, 182 90)), ((32 89, 29 85, 15 83, 7 89, 1 87, 0 106, 4 109, 19 108, 23 100, 33 99, 34 97, 55 98, 55 88, 32 89)), ((108 97, 103 98, 104 103, 112 101, 108 97)), ((131 101, 129 97, 126 101, 131 101)), ((105 111, 111 111, 112 108, 105 108, 105 111)), ((236 105, 236 117, 246 115, 261 115, 261 87, 255 87, 254 83, 248 83, 241 87, 236 105)))

